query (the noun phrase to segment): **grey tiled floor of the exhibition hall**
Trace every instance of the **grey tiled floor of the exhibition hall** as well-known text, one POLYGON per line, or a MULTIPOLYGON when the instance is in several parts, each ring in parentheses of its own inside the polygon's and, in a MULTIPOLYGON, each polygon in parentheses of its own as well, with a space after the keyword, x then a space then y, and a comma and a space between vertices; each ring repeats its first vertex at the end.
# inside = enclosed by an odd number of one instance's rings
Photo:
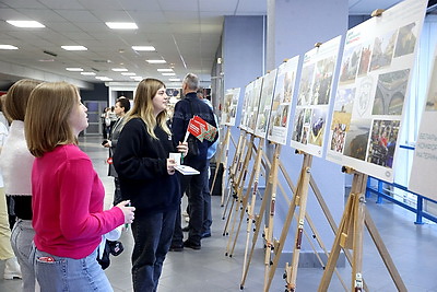
MULTIPOLYGON (((109 207, 113 198, 113 178, 107 177, 105 164, 107 152, 99 145, 99 138, 81 138, 81 147, 92 157, 95 168, 105 184, 109 207)), ((234 256, 225 256, 227 237, 222 236, 224 221, 220 197, 213 196, 212 237, 202 241, 201 250, 185 249, 182 253, 169 253, 164 265, 160 282, 160 292, 215 292, 239 291, 243 255, 245 248, 245 227, 241 227, 234 256)), ((437 225, 426 223, 415 225, 415 217, 392 203, 376 205, 374 198, 367 200, 380 235, 398 268, 406 288, 412 292, 437 291, 437 225)), ((294 232, 294 231, 293 231, 294 232)), ((130 278, 130 253, 133 241, 130 231, 121 237, 125 252, 111 257, 106 273, 116 292, 132 291, 130 278)), ((290 260, 288 260, 290 261, 290 260)), ((3 270, 0 261, 0 275, 3 270)), ((270 291, 284 291, 283 267, 276 269, 270 291)), ((339 268, 346 287, 350 287, 351 268, 339 268)), ((317 291, 323 270, 320 268, 299 268, 297 271, 297 291, 317 291)), ((368 233, 364 236, 363 276, 369 291, 398 291, 368 233)), ((263 248, 261 240, 255 250, 252 264, 244 291, 262 291, 264 278, 263 248)), ((21 280, 0 279, 0 291, 21 291, 21 280)), ((335 273, 329 291, 344 291, 335 273)))

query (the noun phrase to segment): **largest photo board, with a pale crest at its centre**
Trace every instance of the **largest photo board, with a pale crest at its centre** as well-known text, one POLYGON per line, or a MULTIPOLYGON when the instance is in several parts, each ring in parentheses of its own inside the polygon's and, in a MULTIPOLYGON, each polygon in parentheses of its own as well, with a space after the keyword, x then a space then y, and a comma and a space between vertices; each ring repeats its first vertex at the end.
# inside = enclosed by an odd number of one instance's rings
POLYGON ((393 182, 426 4, 408 0, 347 31, 327 160, 393 182))

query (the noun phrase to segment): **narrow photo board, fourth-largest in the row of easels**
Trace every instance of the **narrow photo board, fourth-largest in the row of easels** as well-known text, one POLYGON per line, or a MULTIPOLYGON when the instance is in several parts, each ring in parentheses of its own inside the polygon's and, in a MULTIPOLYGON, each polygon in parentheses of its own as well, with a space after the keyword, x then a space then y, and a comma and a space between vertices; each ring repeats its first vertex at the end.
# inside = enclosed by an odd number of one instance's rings
POLYGON ((255 127, 255 135, 257 137, 265 138, 267 136, 270 109, 272 108, 274 83, 276 82, 276 72, 277 69, 270 71, 264 75, 264 80, 262 81, 261 97, 257 115, 257 126, 255 127))

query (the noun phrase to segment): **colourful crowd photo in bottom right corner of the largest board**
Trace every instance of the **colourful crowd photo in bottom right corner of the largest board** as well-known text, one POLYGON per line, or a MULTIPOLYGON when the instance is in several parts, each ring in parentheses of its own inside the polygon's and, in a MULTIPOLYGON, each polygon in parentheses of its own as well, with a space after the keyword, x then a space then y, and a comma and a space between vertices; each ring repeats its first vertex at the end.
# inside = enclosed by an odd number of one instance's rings
POLYGON ((367 162, 391 168, 399 135, 399 120, 374 120, 367 162))

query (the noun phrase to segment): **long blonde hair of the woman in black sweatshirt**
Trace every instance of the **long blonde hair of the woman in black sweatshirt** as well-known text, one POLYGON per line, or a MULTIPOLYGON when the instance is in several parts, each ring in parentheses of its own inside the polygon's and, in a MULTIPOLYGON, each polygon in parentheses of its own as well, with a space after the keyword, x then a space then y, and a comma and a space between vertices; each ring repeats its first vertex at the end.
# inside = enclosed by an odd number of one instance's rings
POLYGON ((166 110, 161 112, 156 118, 154 115, 152 100, 161 87, 165 89, 165 84, 161 80, 153 78, 143 79, 137 86, 133 107, 125 117, 126 122, 132 118, 141 118, 146 125, 147 133, 154 139, 158 139, 154 132, 156 125, 160 125, 166 133, 172 135, 167 126, 166 110))

